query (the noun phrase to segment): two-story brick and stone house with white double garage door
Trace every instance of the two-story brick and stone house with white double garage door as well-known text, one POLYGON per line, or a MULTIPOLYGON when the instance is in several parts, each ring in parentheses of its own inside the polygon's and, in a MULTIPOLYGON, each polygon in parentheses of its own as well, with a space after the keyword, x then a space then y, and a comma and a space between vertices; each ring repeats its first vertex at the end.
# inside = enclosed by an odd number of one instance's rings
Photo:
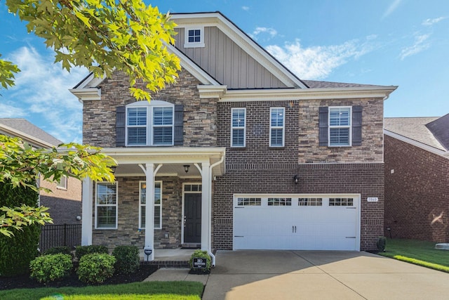
POLYGON ((83 244, 375 249, 396 86, 301 80, 219 12, 172 18, 182 70, 150 103, 120 72, 71 89, 83 143, 118 162, 83 182, 83 244))

